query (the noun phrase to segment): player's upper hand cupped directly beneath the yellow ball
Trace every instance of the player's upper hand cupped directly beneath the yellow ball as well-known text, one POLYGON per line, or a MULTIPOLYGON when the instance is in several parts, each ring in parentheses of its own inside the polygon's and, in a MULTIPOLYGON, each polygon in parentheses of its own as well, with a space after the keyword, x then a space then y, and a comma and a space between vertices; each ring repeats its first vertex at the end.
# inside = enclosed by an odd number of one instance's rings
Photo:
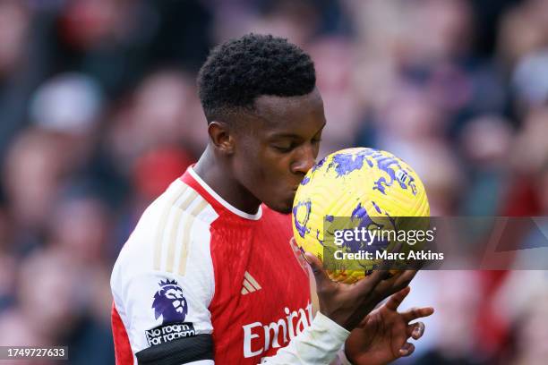
POLYGON ((416 274, 416 270, 406 270, 389 278, 388 270, 374 270, 355 284, 340 284, 330 280, 320 259, 310 252, 304 257, 313 270, 321 313, 348 331, 361 326, 365 316, 388 296, 407 287, 416 274))

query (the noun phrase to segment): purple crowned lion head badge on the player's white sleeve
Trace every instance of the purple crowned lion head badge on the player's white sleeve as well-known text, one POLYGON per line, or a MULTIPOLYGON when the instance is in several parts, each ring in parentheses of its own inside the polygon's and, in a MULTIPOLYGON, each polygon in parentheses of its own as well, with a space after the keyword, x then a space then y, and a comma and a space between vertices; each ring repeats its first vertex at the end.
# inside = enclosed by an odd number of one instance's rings
POLYGON ((175 280, 159 282, 158 292, 154 294, 152 308, 154 318, 162 316, 162 324, 182 322, 188 313, 188 304, 183 289, 175 280))

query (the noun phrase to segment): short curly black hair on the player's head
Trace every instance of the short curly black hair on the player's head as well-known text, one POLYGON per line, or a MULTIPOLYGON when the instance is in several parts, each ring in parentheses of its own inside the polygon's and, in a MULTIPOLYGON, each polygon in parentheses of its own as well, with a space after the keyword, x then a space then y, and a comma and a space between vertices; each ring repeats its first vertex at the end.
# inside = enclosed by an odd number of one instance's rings
POLYGON ((316 85, 310 57, 286 38, 248 34, 211 50, 198 73, 201 106, 215 118, 253 110, 262 95, 295 97, 316 85))

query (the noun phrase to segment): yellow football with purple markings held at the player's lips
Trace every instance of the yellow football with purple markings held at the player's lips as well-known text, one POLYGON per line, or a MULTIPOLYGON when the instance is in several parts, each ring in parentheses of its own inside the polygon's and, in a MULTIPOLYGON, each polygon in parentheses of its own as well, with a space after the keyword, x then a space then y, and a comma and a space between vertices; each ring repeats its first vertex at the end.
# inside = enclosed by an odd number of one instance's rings
POLYGON ((386 151, 354 148, 321 159, 304 176, 292 222, 297 247, 321 259, 331 280, 351 284, 396 247, 398 254, 420 250, 424 234, 409 240, 406 233, 427 231, 428 216, 424 185, 411 166, 386 151))

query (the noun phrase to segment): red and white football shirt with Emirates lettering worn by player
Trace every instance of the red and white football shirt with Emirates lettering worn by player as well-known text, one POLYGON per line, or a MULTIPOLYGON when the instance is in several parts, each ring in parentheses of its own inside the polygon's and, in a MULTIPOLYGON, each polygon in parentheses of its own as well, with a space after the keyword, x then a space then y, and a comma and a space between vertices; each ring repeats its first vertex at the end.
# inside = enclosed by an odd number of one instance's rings
MULTIPOLYGON (((310 326, 290 216, 246 214, 190 167, 141 216, 111 277, 116 363, 257 364, 310 326)), ((343 339, 344 341, 344 339, 343 339)))

